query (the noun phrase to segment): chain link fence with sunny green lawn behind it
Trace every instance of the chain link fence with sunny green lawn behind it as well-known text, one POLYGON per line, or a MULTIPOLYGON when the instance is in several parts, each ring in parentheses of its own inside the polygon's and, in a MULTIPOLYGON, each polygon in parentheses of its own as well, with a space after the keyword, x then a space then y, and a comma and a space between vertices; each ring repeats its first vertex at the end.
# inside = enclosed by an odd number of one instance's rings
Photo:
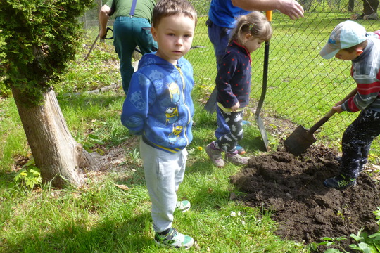
MULTIPOLYGON (((95 38, 99 31, 98 13, 104 3, 96 1, 96 7, 82 17, 90 38, 95 38)), ((205 25, 210 0, 191 0, 191 3, 198 13, 198 25, 193 47, 186 58, 194 67, 196 85, 204 86, 211 93, 215 85, 216 62, 205 25)), ((305 16, 299 20, 291 20, 276 10, 272 15, 274 33, 270 41, 267 95, 261 117, 274 138, 286 138, 298 125, 309 129, 356 87, 350 77, 350 62, 324 60, 319 51, 338 23, 349 20, 355 13, 362 13, 362 1, 302 0, 300 4, 305 9, 305 16), (276 130, 280 128, 282 131, 276 130)), ((356 21, 368 32, 380 29, 379 20, 356 21)), ((110 20, 108 26, 112 24, 113 20, 110 20)), ((264 46, 251 56, 251 103, 255 113, 262 92, 264 46)), ((357 113, 334 115, 315 136, 325 145, 338 146, 343 131, 357 113)), ((379 138, 372 145, 372 155, 380 156, 379 138)))

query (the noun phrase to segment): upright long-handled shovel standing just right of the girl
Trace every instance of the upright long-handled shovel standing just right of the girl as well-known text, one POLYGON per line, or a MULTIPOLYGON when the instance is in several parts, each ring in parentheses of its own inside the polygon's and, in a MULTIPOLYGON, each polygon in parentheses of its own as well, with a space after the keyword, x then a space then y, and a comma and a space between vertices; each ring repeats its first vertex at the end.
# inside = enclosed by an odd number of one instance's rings
MULTIPOLYGON (((272 22, 272 11, 267 11, 267 20, 269 22, 272 22)), ((255 120, 258 124, 258 129, 260 130, 262 141, 264 142, 265 151, 268 151, 268 136, 267 131, 265 131, 264 122, 262 122, 262 119, 260 117, 260 111, 262 108, 262 104, 264 103, 265 94, 267 93, 267 80, 268 80, 268 63, 269 63, 269 41, 265 42, 265 48, 264 48, 264 70, 262 72, 262 91, 260 100, 258 102, 258 107, 256 108, 255 112, 255 120)))

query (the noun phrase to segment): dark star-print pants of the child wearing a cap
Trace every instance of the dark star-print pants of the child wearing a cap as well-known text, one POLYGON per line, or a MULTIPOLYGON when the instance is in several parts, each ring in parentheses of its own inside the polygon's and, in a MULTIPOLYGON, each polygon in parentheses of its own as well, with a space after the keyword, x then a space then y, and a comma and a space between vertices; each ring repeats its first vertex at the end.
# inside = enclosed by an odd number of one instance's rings
POLYGON ((364 169, 372 141, 380 134, 380 112, 364 110, 342 138, 341 174, 356 179, 364 169))

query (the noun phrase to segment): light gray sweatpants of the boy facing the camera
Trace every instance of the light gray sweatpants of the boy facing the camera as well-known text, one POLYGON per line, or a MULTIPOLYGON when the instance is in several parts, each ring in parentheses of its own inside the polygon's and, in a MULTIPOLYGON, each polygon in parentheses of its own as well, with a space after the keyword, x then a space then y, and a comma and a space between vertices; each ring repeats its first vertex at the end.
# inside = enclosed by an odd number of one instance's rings
POLYGON ((184 179, 187 150, 167 153, 153 148, 140 139, 146 188, 152 202, 151 216, 156 232, 171 228, 177 204, 177 190, 184 179))

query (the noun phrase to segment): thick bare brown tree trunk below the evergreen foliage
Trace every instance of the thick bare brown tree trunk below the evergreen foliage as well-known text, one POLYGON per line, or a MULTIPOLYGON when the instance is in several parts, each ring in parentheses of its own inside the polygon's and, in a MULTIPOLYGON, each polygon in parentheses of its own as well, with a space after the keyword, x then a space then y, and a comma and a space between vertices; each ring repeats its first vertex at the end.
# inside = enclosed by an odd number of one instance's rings
POLYGON ((25 103, 19 89, 13 88, 12 92, 42 179, 57 188, 65 183, 82 186, 80 168, 88 167, 94 158, 72 138, 54 91, 44 93, 43 105, 25 103))

